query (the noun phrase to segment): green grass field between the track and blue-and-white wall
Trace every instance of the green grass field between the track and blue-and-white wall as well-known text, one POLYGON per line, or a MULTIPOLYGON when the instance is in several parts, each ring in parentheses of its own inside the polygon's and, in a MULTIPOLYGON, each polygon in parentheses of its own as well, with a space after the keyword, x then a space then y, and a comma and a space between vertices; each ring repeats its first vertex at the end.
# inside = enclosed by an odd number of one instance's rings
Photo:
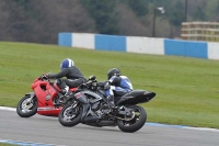
POLYGON ((72 58, 84 76, 106 79, 112 67, 130 78, 135 89, 154 91, 141 104, 148 122, 219 128, 219 60, 101 52, 25 43, 0 43, 0 105, 16 106, 43 72, 58 72, 72 58))

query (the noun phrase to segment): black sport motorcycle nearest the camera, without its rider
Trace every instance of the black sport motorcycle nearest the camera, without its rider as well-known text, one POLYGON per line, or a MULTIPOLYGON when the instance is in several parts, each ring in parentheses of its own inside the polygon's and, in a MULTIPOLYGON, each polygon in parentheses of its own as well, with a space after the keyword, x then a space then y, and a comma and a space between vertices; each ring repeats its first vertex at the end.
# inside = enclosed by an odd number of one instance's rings
POLYGON ((154 92, 134 90, 123 97, 115 97, 115 108, 106 105, 103 82, 97 82, 95 76, 81 85, 74 96, 76 101, 66 104, 59 112, 58 119, 64 126, 74 126, 79 123, 91 126, 118 126, 120 131, 134 133, 140 130, 146 121, 147 113, 137 105, 155 97, 154 92))

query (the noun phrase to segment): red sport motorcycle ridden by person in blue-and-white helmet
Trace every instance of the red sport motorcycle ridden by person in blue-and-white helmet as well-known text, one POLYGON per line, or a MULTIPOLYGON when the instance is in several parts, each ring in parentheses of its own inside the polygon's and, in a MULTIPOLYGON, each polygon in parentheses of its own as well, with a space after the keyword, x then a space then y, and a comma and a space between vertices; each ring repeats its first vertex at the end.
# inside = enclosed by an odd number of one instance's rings
MULTIPOLYGON (((73 102, 72 98, 67 98, 66 101, 60 103, 61 89, 45 75, 36 78, 31 87, 34 92, 26 93, 16 106, 16 113, 21 117, 30 117, 36 113, 47 116, 58 116, 66 103, 73 102)), ((71 92, 76 90, 77 88, 70 88, 71 92)))

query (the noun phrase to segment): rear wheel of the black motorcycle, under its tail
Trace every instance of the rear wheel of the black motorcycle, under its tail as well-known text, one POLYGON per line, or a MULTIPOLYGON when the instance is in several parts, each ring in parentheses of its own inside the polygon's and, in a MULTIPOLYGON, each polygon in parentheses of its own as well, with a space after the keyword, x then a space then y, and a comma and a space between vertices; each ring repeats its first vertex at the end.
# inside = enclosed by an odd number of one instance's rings
POLYGON ((134 133, 145 125, 147 121, 147 113, 145 109, 139 105, 130 105, 127 108, 132 109, 132 111, 135 112, 134 119, 130 121, 117 120, 117 125, 123 132, 134 133))

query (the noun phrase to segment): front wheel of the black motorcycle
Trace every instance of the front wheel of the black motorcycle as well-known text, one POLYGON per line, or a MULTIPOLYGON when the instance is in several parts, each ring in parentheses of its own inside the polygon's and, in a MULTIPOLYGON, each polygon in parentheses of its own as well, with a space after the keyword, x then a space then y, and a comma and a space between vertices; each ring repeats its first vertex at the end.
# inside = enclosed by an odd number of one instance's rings
POLYGON ((80 105, 72 106, 66 104, 58 115, 58 121, 64 126, 76 126, 80 123, 82 116, 82 108, 80 105))

